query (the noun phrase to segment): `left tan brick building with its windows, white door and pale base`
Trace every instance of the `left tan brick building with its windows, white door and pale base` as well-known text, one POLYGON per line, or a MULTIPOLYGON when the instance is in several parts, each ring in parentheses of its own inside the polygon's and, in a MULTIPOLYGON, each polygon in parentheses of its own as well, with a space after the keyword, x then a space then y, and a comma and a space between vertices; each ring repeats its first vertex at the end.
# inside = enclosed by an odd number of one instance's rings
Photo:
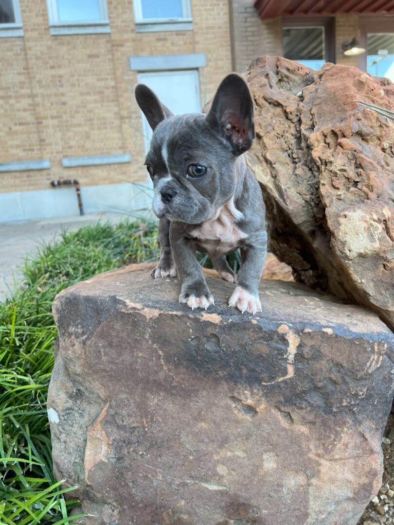
POLYGON ((52 180, 85 212, 143 207, 134 87, 200 111, 231 70, 227 0, 0 0, 0 221, 77 215, 52 180))

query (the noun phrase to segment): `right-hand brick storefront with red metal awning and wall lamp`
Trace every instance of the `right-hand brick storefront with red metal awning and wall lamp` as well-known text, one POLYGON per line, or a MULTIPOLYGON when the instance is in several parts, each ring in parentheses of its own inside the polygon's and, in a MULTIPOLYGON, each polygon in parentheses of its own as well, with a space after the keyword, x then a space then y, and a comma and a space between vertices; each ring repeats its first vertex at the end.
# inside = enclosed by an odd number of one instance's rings
POLYGON ((231 18, 237 71, 258 56, 279 55, 314 69, 328 61, 355 66, 394 82, 392 0, 232 0, 231 18), (365 53, 345 55, 350 44, 365 53))

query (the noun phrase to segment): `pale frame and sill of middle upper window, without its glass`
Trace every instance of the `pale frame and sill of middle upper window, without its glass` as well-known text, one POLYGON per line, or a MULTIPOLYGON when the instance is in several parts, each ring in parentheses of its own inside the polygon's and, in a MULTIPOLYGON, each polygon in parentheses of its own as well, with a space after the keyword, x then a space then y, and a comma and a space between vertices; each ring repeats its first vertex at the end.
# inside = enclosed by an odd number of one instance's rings
POLYGON ((47 0, 50 34, 85 35, 110 33, 107 0, 98 0, 100 20, 59 20, 56 0, 47 0))

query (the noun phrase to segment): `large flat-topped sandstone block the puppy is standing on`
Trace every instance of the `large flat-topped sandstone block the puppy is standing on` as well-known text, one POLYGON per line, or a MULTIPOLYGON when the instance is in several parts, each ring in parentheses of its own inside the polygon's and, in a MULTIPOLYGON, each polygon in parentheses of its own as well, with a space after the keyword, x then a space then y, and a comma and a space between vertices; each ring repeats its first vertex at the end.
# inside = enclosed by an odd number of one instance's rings
POLYGON ((206 312, 148 265, 57 296, 58 479, 91 524, 354 525, 380 487, 393 335, 290 282, 263 282, 263 312, 242 315, 208 281, 206 312))

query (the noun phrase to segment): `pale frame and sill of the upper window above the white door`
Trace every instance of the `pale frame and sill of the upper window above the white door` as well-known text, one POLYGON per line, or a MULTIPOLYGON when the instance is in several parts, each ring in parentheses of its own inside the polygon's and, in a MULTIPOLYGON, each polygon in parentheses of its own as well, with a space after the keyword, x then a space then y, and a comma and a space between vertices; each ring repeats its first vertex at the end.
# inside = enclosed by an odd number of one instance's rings
POLYGON ((175 18, 143 18, 142 2, 143 0, 133 1, 134 23, 136 24, 137 32, 183 31, 193 29, 190 0, 181 0, 183 16, 175 18))

